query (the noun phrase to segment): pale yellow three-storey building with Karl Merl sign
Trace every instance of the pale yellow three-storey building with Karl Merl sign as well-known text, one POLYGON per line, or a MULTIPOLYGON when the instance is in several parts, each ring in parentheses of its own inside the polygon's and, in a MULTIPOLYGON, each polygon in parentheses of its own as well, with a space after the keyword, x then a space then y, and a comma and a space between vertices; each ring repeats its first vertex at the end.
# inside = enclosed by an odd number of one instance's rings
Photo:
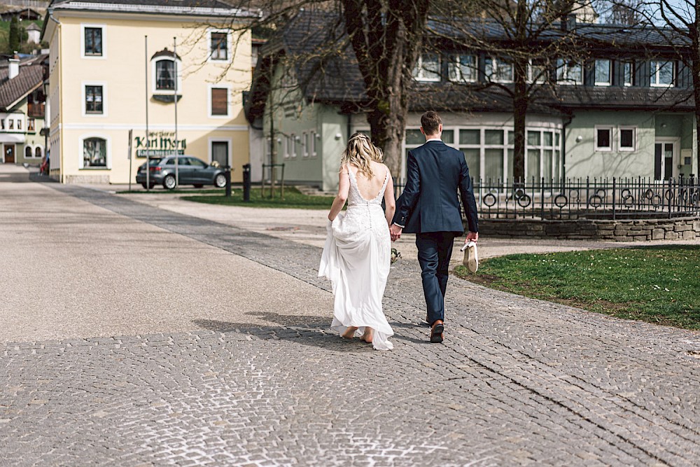
POLYGON ((230 165, 240 181, 251 39, 230 26, 247 18, 216 0, 52 1, 42 33, 50 174, 63 183, 133 182, 148 127, 150 155, 177 149, 230 165))

